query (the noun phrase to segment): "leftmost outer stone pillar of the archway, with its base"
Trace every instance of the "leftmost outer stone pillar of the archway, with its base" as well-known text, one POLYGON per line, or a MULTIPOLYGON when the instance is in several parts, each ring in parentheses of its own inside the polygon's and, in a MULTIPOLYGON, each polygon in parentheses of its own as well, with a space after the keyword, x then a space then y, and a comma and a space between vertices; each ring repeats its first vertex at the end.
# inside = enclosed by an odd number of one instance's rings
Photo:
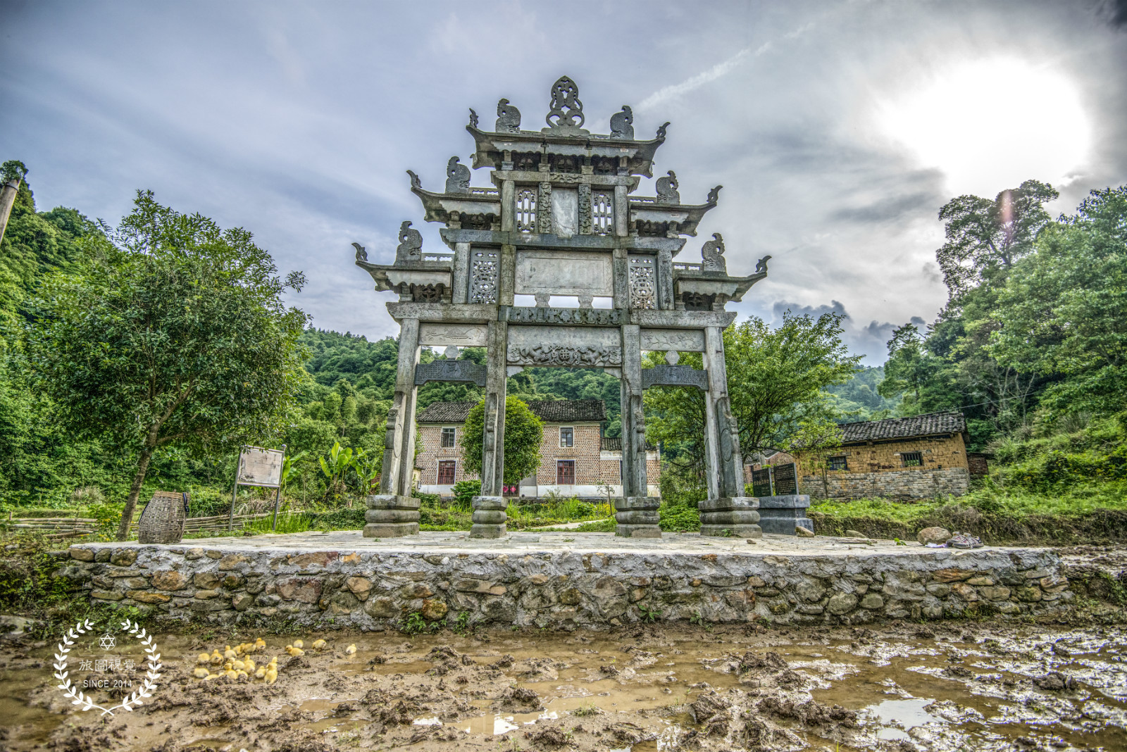
POLYGON ((367 496, 365 538, 394 538, 419 531, 419 500, 410 495, 415 472, 415 406, 418 387, 419 320, 399 322, 396 393, 388 411, 380 493, 367 496))

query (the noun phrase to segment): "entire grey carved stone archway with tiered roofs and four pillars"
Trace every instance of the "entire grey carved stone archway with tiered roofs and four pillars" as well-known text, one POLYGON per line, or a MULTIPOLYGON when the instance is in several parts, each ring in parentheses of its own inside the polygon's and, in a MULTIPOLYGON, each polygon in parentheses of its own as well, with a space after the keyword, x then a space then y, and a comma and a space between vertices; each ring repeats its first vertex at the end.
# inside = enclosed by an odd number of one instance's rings
POLYGON ((505 534, 506 383, 530 367, 598 368, 620 379, 618 535, 660 536, 658 499, 647 494, 642 392, 667 384, 706 395, 701 534, 762 535, 757 502, 744 495, 721 333, 736 317, 725 305, 766 276, 765 263, 753 275, 729 276, 719 233, 703 244, 700 263, 675 262, 685 236, 695 235, 717 205, 720 186, 704 204, 682 204, 671 171, 657 180, 656 197, 632 195, 640 176, 651 177, 668 123, 657 137, 638 141, 624 109, 612 118, 611 134, 592 134, 580 127, 576 92, 570 79, 556 82, 549 127, 540 131, 521 129, 511 105, 491 132, 470 110, 473 167, 489 170, 492 188, 470 187, 470 169, 456 156, 447 162, 443 193, 425 190, 408 171, 426 221, 445 225, 441 234, 452 253, 423 251, 409 221, 400 226, 393 265, 370 263, 356 247, 356 263, 372 275, 375 289, 398 293, 388 311, 400 325, 381 493, 369 498, 365 536, 418 532, 419 501, 409 495, 415 413, 418 387, 431 381, 472 382, 485 392, 481 495, 473 501, 470 535, 505 534), (518 305, 524 296, 535 305, 518 305), (578 307, 566 305, 573 301, 578 307), (423 347, 485 347, 486 364, 420 364, 423 347), (642 352, 655 350, 669 353, 667 365, 642 369, 642 352), (678 365, 678 352, 700 352, 703 368, 678 365))

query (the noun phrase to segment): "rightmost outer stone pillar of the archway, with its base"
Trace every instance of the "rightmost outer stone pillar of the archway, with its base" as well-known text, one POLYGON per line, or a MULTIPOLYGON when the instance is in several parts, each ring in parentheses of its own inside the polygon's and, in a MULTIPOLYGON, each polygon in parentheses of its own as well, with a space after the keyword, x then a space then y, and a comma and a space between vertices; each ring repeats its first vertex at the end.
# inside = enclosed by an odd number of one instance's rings
POLYGON ((701 535, 761 538, 760 500, 744 495, 739 427, 728 399, 724 361, 724 330, 704 329, 704 367, 708 369, 706 408, 706 465, 708 499, 700 502, 701 535))

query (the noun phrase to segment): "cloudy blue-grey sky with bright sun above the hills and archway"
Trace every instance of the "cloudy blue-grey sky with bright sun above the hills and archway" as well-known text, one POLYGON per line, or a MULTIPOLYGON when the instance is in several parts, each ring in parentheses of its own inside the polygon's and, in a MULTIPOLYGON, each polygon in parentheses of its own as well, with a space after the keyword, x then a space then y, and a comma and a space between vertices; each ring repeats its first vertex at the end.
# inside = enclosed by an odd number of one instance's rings
POLYGON ((291 298, 314 325, 370 339, 397 332, 390 294, 349 243, 390 262, 411 220, 447 250, 405 170, 441 190, 468 108, 491 124, 506 97, 539 128, 562 74, 593 132, 622 105, 638 137, 672 122, 657 174, 685 203, 724 185, 680 260, 713 232, 733 272, 770 253, 734 307, 848 313, 870 365, 946 301, 949 198, 1037 178, 1058 213, 1127 182, 1124 0, 0 0, 0 159, 28 165, 41 208, 116 223, 151 188, 252 231, 305 272, 291 298))

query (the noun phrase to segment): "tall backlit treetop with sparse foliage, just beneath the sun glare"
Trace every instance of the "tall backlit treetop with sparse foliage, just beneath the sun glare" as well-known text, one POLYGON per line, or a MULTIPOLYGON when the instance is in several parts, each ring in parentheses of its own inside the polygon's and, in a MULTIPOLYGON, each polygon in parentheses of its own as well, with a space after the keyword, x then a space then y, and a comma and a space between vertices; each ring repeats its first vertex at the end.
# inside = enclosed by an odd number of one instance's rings
POLYGON ((947 242, 935 252, 951 301, 959 301, 984 281, 995 281, 1032 251, 1037 233, 1051 218, 1045 204, 1059 194, 1044 182, 1026 180, 1000 193, 952 198, 939 211, 947 242))

